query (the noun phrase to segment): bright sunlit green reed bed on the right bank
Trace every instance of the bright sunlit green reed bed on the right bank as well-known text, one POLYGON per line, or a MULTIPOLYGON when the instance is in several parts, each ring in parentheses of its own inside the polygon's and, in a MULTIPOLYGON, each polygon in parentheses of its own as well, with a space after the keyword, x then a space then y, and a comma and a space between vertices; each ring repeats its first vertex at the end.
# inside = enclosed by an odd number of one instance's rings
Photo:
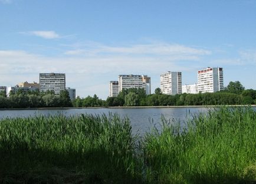
POLYGON ((221 107, 182 129, 163 120, 146 134, 146 178, 152 183, 256 182, 256 112, 221 107))

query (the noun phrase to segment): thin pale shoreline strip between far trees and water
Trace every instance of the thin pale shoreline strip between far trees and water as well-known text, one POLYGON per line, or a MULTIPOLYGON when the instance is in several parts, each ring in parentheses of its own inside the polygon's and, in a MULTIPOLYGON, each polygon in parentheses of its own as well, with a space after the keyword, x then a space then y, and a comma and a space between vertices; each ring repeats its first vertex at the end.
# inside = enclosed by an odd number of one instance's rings
MULTIPOLYGON (((225 107, 245 107, 248 105, 224 105, 225 107)), ((250 105, 256 107, 256 105, 250 105)), ((116 107, 35 107, 35 108, 7 108, 1 110, 57 110, 57 109, 157 109, 157 108, 208 108, 208 107, 223 107, 219 106, 116 106, 116 107)))

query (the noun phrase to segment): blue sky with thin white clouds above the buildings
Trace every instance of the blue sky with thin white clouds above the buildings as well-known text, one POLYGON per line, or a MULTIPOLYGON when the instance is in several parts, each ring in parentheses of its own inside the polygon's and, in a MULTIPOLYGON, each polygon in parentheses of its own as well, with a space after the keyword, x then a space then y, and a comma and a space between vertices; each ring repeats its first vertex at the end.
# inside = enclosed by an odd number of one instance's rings
POLYGON ((106 99, 118 75, 222 67, 256 89, 256 0, 0 0, 0 86, 65 73, 77 96, 106 99))

